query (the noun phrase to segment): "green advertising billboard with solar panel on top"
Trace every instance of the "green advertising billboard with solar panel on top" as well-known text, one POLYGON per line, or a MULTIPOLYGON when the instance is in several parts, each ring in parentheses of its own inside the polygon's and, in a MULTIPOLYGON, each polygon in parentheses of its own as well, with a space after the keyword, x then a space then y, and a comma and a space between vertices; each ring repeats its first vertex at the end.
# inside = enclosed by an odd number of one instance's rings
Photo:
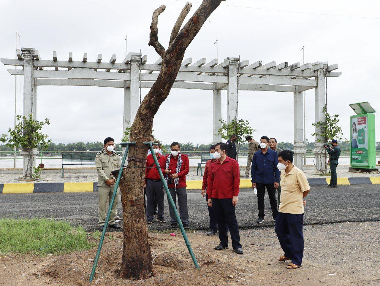
MULTIPOLYGON (((375 114, 364 113, 366 110, 361 105, 364 103, 350 104, 357 113, 350 117, 351 167, 374 169, 376 167, 375 114), (361 110, 355 110, 354 105, 359 105, 361 110)), ((375 112, 373 109, 369 110, 375 112)))

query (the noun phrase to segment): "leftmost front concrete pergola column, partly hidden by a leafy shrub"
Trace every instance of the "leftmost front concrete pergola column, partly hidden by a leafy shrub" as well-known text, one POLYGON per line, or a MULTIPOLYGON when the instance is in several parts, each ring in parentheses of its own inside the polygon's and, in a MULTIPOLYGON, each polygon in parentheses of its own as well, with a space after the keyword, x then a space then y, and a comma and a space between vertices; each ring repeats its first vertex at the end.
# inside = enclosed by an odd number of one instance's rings
MULTIPOLYGON (((33 119, 36 119, 36 85, 33 78, 33 58, 35 55, 34 48, 21 48, 22 57, 24 58, 24 113, 26 118, 32 114, 33 119)), ((23 156, 23 174, 36 166, 36 150, 32 151, 32 158, 28 152, 21 152, 23 156)), ((29 173, 29 172, 28 172, 29 173)), ((29 178, 29 176, 27 176, 29 178)))

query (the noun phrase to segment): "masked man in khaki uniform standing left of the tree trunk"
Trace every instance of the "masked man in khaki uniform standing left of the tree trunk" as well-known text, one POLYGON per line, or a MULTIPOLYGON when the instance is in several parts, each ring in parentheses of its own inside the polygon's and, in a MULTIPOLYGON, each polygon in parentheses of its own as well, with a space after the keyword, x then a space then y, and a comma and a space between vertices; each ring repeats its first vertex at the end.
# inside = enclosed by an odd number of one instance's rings
MULTIPOLYGON (((98 189, 99 189, 99 229, 103 231, 106 220, 107 201, 111 202, 112 194, 115 188, 116 179, 111 172, 121 167, 120 155, 115 152, 114 139, 107 137, 104 140, 105 150, 97 153, 95 166, 98 171, 98 189)), ((110 228, 120 229, 115 223, 116 209, 119 202, 119 191, 116 193, 114 205, 112 206, 111 216, 109 217, 108 226, 110 228)))

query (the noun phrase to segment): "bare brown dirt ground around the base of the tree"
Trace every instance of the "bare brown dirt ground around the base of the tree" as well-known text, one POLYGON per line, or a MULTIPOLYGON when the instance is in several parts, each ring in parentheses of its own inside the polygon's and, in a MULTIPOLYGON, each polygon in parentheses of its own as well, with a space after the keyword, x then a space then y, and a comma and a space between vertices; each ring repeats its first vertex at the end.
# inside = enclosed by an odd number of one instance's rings
MULTIPOLYGON (((0 285, 380 285, 380 222, 304 226, 302 268, 287 270, 273 227, 241 230, 244 254, 215 251, 217 235, 188 234, 200 270, 194 269, 182 235, 150 233, 158 276, 119 279, 122 232, 106 235, 92 283, 89 275, 97 248, 39 258, 3 255, 0 285)), ((89 240, 98 243, 89 235, 89 240)), ((131 265, 133 267, 133 265, 131 265)))

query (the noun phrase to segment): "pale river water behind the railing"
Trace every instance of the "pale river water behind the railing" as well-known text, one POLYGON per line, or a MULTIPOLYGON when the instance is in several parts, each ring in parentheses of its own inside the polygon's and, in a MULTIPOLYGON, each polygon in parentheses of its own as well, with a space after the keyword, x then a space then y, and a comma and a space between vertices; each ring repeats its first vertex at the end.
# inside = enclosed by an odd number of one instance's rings
MULTIPOLYGON (((16 158, 22 159, 21 156, 16 156, 16 158)), ((189 163, 190 167, 196 167, 198 166, 198 163, 201 161, 199 157, 192 158, 189 157, 189 163)), ((37 164, 41 163, 41 160, 39 157, 37 157, 37 164)), ((60 157, 54 158, 49 157, 47 159, 42 159, 42 163, 44 164, 45 168, 61 168, 62 167, 62 160, 60 157)), ((247 165, 247 157, 239 158, 239 164, 241 166, 247 165)), ((349 165, 350 164, 350 158, 349 157, 342 157, 339 159, 339 164, 341 165, 349 165)), ((313 165, 313 158, 306 158, 306 165, 313 165)), ((65 165, 65 167, 95 167, 95 165, 65 165)), ((13 168, 13 156, 0 156, 0 169, 1 168, 13 168), (2 160, 7 159, 7 160, 2 160)), ((16 160, 16 168, 22 168, 22 160, 16 160)))

